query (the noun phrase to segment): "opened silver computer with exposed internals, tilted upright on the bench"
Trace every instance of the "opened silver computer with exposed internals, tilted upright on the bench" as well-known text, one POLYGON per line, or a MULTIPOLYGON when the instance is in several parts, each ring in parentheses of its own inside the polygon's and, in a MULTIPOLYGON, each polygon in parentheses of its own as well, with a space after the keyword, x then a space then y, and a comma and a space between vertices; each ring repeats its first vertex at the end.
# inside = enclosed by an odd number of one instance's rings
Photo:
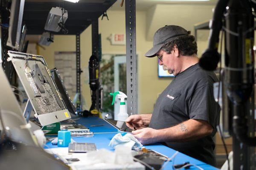
POLYGON ((29 102, 42 126, 70 119, 47 64, 42 56, 8 51, 29 102))

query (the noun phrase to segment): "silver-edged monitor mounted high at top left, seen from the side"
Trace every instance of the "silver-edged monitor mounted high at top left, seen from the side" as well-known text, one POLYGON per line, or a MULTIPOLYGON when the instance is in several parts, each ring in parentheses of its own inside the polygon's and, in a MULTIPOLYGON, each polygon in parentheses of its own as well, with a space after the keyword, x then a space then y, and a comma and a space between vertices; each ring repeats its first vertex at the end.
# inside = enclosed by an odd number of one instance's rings
POLYGON ((7 44, 19 49, 20 34, 25 0, 12 0, 7 44))

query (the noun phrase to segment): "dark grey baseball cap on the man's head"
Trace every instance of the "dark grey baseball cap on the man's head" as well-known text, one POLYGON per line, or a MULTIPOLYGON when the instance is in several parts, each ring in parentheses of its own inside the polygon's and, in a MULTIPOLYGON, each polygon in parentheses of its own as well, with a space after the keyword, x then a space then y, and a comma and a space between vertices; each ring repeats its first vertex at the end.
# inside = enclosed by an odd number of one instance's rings
POLYGON ((153 47, 145 54, 146 57, 155 57, 162 46, 177 37, 189 35, 190 31, 180 26, 164 26, 154 34, 153 47))

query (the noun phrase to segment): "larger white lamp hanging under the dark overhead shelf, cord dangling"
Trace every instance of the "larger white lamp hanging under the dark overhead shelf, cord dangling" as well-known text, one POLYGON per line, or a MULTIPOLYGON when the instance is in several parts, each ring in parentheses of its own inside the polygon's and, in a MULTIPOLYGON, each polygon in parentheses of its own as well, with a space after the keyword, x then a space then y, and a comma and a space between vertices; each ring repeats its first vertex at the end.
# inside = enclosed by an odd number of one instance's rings
MULTIPOLYGON (((47 31, 54 31, 54 32, 58 32, 61 30, 61 27, 58 26, 58 23, 62 22, 62 10, 63 8, 60 7, 52 7, 51 11, 49 11, 44 29, 47 31)), ((64 23, 67 20, 67 11, 64 11, 63 14, 63 21, 64 23)), ((63 24, 64 24, 63 23, 63 24)))

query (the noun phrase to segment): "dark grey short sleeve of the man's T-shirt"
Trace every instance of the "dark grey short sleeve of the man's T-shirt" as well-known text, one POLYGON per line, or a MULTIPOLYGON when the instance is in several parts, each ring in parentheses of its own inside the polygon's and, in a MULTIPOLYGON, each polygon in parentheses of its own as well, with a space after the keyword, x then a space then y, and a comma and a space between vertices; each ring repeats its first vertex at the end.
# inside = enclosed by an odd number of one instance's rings
POLYGON ((212 85, 204 85, 195 90, 189 103, 189 118, 207 121, 212 127, 216 127, 220 107, 215 102, 212 85))

